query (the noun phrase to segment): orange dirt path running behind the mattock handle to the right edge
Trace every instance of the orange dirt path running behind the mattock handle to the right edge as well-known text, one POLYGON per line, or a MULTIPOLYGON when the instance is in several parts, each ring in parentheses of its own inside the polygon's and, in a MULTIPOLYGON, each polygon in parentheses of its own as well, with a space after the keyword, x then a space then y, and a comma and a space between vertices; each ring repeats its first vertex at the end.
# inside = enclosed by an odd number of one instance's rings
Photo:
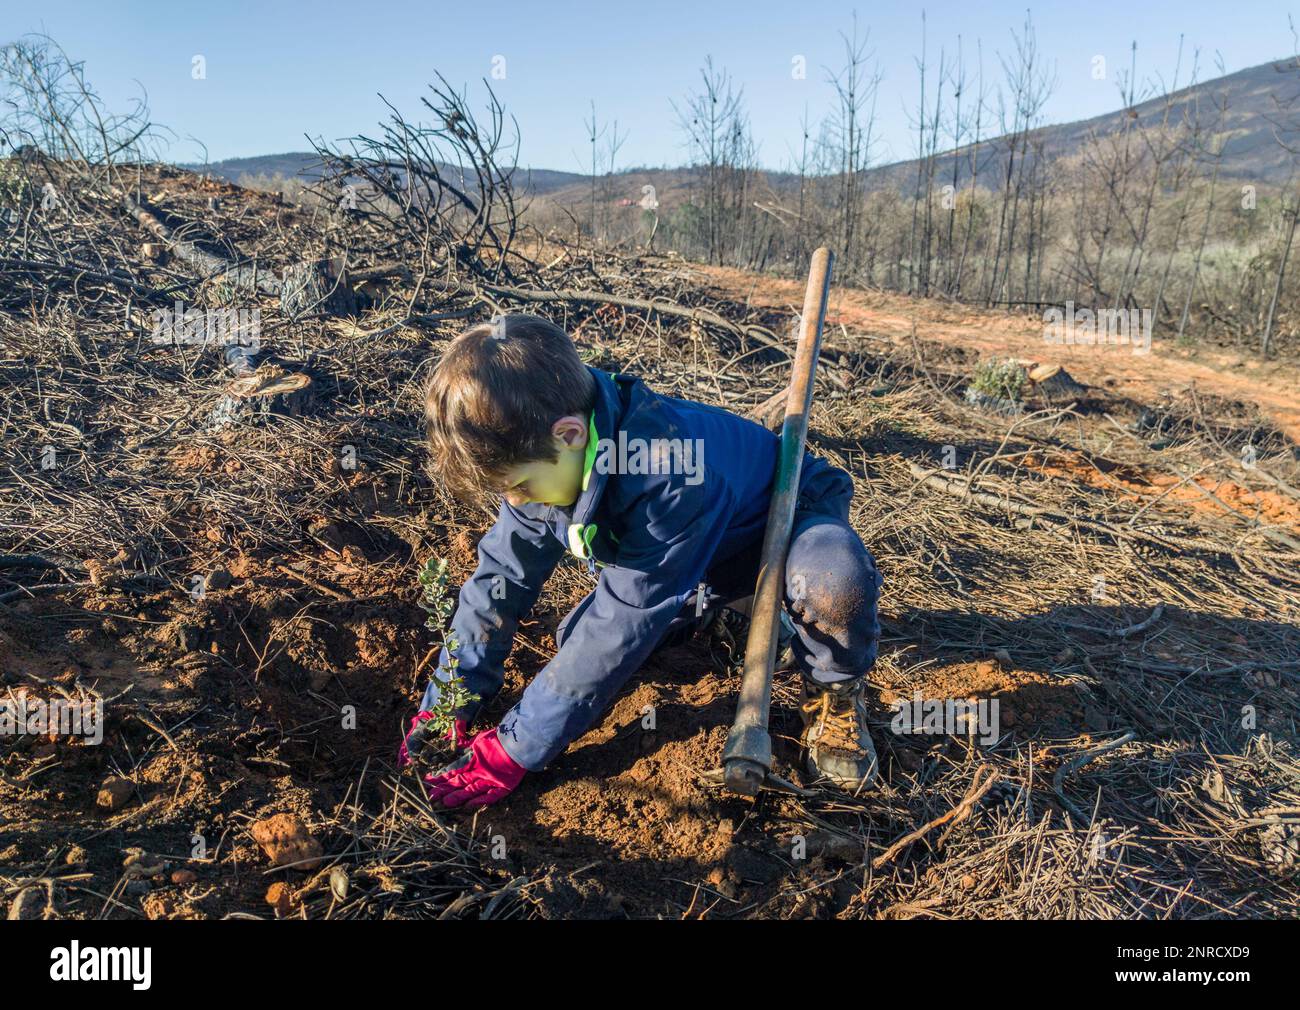
MULTIPOLYGON (((688 273, 719 294, 751 305, 797 312, 803 283, 758 277, 725 266, 690 265, 688 273)), ((1166 391, 1195 383, 1197 391, 1256 404, 1279 432, 1300 442, 1300 368, 1260 361, 1218 350, 1184 350, 1158 342, 1150 354, 1123 346, 1065 346, 1044 341, 1035 316, 913 299, 880 291, 832 287, 827 313, 828 338, 840 326, 888 337, 894 342, 916 335, 942 341, 989 356, 1057 361, 1080 382, 1108 386, 1139 403, 1153 403, 1166 391)))

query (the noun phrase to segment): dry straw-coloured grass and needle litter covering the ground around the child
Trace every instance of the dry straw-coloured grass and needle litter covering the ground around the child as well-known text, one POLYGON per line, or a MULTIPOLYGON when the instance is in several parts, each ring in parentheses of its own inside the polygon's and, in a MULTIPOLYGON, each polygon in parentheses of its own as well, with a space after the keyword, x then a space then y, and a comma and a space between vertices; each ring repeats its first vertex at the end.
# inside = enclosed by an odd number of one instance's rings
MULTIPOLYGON (((192 181, 164 173, 151 182, 174 213, 238 235, 242 255, 291 261, 285 212, 272 198, 224 190, 214 218, 192 181)), ((309 221, 292 224, 308 244, 320 238, 309 221)), ((0 473, 0 641, 75 623, 75 604, 105 578, 127 594, 170 594, 182 614, 191 577, 221 551, 286 560, 318 543, 321 520, 361 526, 412 558, 445 552, 456 533, 482 528, 486 511, 458 510, 422 472, 419 385, 467 318, 536 304, 458 291, 413 307, 458 318, 421 324, 400 285, 348 322, 291 321, 264 302, 264 343, 313 377, 316 396, 300 416, 218 429, 212 412, 229 378, 218 356, 153 344, 131 322, 139 290, 187 282, 144 263, 138 237, 107 204, 84 208, 78 227, 86 242, 116 250, 99 265, 129 285, 10 269, 0 299, 0 428, 12 448, 0 473), (339 463, 348 447, 355 471, 339 463), (51 594, 70 610, 29 606, 51 594)), ((21 259, 16 252, 5 255, 21 259)), ((783 354, 759 337, 780 339, 789 321, 690 289, 672 260, 602 261, 563 250, 543 276, 551 290, 582 285, 710 313, 545 305, 594 365, 741 412, 784 382, 783 354)), ((211 283, 190 294, 200 304, 218 298, 211 283)), ((1295 446, 1248 411, 1247 420, 1225 420, 1191 398, 1128 404, 1091 391, 1070 404, 1031 399, 1018 417, 982 413, 957 395, 965 370, 920 337, 901 354, 881 351, 870 334, 829 333, 811 419, 811 448, 854 478, 852 519, 887 580, 872 680, 897 695, 935 697, 946 689, 936 671, 992 662, 1013 685, 1009 697, 1032 681, 1095 718, 1019 723, 982 747, 946 737, 918 745, 893 734, 883 711, 879 790, 758 802, 771 838, 802 835, 811 859, 738 901, 699 883, 703 897, 681 914, 1295 916, 1300 551, 1286 539, 1295 530, 1222 502, 1193 508, 1154 493, 1135 500, 1118 482, 1106 486, 1117 467, 1247 481, 1234 461, 1249 442, 1261 454, 1253 490, 1287 497, 1297 484, 1295 446), (1156 422, 1143 420, 1144 407, 1157 411, 1156 422), (1082 469, 1070 478, 1045 472, 1044 460, 1082 469), (1100 477, 1084 480, 1088 472, 1100 477), (978 775, 992 783, 968 815, 872 867, 896 841, 959 807, 978 775)), ((571 594, 566 578, 549 593, 571 594)), ((793 701, 781 681, 777 706, 793 701)), ((0 755, 12 772, 0 784, 6 806, 23 802, 26 760, 0 755)), ((333 837, 351 840, 333 857, 347 867, 348 897, 332 892, 322 871, 296 914, 540 911, 529 896, 542 866, 488 874, 472 823, 432 815, 400 783, 380 805, 360 792, 321 815, 333 837)), ((13 896, 55 877, 69 893, 81 887, 36 863, 6 871, 0 887, 13 896)))

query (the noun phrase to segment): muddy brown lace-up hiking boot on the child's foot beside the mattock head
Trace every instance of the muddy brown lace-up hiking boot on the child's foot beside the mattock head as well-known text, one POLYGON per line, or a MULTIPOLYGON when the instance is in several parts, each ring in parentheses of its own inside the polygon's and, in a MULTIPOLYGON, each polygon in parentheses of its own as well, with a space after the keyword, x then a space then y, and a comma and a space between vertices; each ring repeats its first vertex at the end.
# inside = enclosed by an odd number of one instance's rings
POLYGON ((809 771, 850 793, 870 786, 879 772, 876 747, 867 728, 866 682, 862 677, 840 684, 803 681, 800 715, 809 771))

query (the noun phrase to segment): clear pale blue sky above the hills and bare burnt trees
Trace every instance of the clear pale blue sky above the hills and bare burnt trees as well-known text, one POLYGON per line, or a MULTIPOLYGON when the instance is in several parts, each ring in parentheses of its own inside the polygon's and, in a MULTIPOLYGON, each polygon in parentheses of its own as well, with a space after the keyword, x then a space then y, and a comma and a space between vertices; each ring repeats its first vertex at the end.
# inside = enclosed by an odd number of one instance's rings
MULTIPOLYGON (((784 168, 798 147, 805 108, 814 121, 831 108, 824 68, 838 62, 838 32, 852 31, 854 9, 884 75, 876 161, 907 157, 914 140, 905 105, 916 92, 919 4, 0 0, 0 40, 48 32, 84 60, 110 104, 142 84, 155 121, 177 134, 166 151, 176 161, 202 159, 191 135, 218 160, 300 151, 304 134, 335 139, 372 130, 384 113, 377 92, 417 116, 434 69, 458 87, 468 83, 477 97, 478 81, 504 57, 504 79, 493 84, 519 120, 520 164, 571 172, 589 157, 582 121, 593 99, 598 120, 618 120, 627 135, 620 168, 681 164, 685 149, 670 100, 682 104, 711 55, 744 87, 762 162, 784 168), (191 73, 195 56, 205 60, 203 79, 191 73), (806 79, 792 78, 796 56, 806 61, 806 79)), ((997 55, 1009 52, 1010 31, 1026 13, 1023 3, 1001 0, 924 9, 931 58, 940 45, 954 51, 961 35, 974 74, 979 40, 987 82, 1001 73, 997 55)), ((1049 122, 1113 109, 1132 40, 1139 79, 1171 77, 1179 34, 1183 78, 1197 47, 1202 79, 1217 74, 1216 55, 1231 73, 1294 51, 1287 0, 1091 0, 1030 9, 1057 74, 1044 109, 1049 122), (1105 81, 1093 79, 1096 56, 1106 57, 1105 81)))

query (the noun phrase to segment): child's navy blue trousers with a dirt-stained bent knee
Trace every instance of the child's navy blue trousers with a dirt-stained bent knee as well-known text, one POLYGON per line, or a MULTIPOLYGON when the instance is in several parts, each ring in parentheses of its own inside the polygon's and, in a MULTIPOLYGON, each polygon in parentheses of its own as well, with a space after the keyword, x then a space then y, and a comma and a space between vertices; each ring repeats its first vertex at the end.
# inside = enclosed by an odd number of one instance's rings
MULTIPOLYGON (((822 684, 861 677, 875 666, 880 640, 876 604, 883 578, 862 538, 849 525, 853 482, 840 469, 823 473, 796 503, 785 556, 785 610, 794 624, 794 660, 822 684)), ((754 593, 762 541, 715 560, 705 585, 671 625, 666 638, 689 630, 707 608, 754 593), (701 599, 702 597, 702 599, 701 599)), ((564 643, 572 623, 592 602, 588 594, 555 629, 564 643)))

